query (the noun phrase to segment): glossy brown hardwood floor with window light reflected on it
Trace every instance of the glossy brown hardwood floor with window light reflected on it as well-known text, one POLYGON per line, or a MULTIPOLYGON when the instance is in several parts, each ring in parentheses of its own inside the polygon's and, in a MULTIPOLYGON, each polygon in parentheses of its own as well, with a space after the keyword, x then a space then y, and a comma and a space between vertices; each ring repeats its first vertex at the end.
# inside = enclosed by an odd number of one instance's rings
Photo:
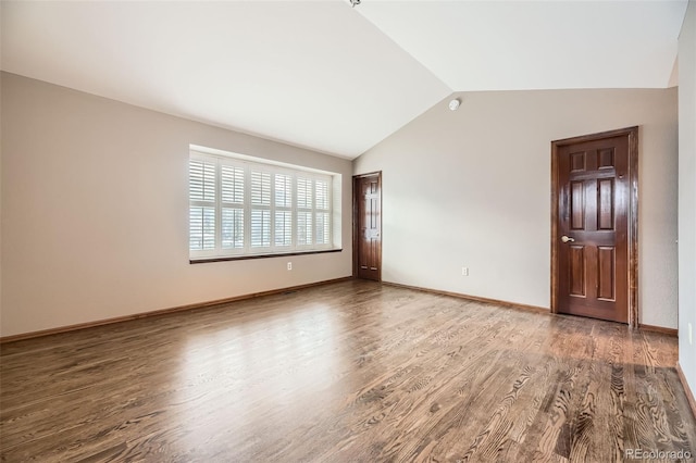
POLYGON ((16 341, 0 354, 8 462, 696 451, 675 338, 371 281, 16 341))

